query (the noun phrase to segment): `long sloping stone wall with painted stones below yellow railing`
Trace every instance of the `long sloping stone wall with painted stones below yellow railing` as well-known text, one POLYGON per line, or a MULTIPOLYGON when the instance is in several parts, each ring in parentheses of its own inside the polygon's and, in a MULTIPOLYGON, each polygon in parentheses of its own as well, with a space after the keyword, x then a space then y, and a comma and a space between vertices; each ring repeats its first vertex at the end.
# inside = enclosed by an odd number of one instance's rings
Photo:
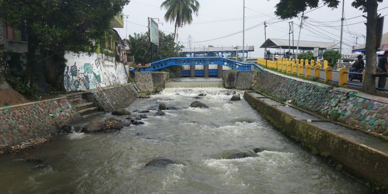
POLYGON ((255 89, 314 111, 332 120, 384 133, 388 131, 388 99, 359 91, 333 88, 272 71, 260 73, 255 89))

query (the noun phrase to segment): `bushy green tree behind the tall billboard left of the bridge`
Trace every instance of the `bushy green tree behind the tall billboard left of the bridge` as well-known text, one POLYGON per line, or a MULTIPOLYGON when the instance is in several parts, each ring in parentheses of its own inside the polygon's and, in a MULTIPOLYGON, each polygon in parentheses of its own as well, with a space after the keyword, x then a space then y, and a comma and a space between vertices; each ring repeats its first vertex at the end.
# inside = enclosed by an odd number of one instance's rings
MULTIPOLYGON (((150 48, 149 33, 135 33, 133 36, 129 35, 128 41, 133 51, 132 55, 135 57, 136 63, 146 64, 151 63, 151 55, 148 51, 150 48)), ((159 47, 158 47, 158 58, 165 59, 169 57, 178 57, 181 45, 174 42, 173 34, 166 34, 159 31, 159 47)), ((168 71, 179 71, 182 70, 180 66, 167 67, 168 71)), ((164 69, 166 71, 166 69, 164 69)))

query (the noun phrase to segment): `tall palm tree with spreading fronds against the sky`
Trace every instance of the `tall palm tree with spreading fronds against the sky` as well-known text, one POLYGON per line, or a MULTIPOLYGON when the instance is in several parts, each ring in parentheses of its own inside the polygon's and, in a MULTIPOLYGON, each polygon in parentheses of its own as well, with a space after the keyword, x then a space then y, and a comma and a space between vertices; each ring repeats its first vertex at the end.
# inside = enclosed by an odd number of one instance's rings
POLYGON ((199 2, 197 0, 165 0, 160 8, 166 8, 164 19, 175 23, 174 40, 177 37, 178 28, 185 24, 191 24, 193 21, 192 14, 198 16, 199 2))

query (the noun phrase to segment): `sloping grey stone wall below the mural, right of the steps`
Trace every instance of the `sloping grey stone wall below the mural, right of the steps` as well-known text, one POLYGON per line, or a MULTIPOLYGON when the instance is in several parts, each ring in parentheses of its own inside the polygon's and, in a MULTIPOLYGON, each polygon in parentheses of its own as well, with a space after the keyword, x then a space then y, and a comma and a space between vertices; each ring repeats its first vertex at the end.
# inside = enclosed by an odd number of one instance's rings
POLYGON ((88 101, 94 101, 103 110, 111 112, 113 111, 112 106, 114 109, 128 106, 137 98, 137 91, 133 84, 124 84, 116 87, 103 88, 102 92, 97 89, 84 94, 83 97, 88 101))

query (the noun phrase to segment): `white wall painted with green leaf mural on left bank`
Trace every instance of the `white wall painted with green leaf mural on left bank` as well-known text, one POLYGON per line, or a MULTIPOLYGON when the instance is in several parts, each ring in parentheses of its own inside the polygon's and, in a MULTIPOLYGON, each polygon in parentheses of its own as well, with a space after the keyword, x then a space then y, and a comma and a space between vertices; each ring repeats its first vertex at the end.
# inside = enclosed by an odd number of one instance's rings
POLYGON ((122 63, 104 60, 96 53, 65 53, 66 68, 64 85, 66 91, 86 91, 106 86, 127 83, 127 74, 122 63))

